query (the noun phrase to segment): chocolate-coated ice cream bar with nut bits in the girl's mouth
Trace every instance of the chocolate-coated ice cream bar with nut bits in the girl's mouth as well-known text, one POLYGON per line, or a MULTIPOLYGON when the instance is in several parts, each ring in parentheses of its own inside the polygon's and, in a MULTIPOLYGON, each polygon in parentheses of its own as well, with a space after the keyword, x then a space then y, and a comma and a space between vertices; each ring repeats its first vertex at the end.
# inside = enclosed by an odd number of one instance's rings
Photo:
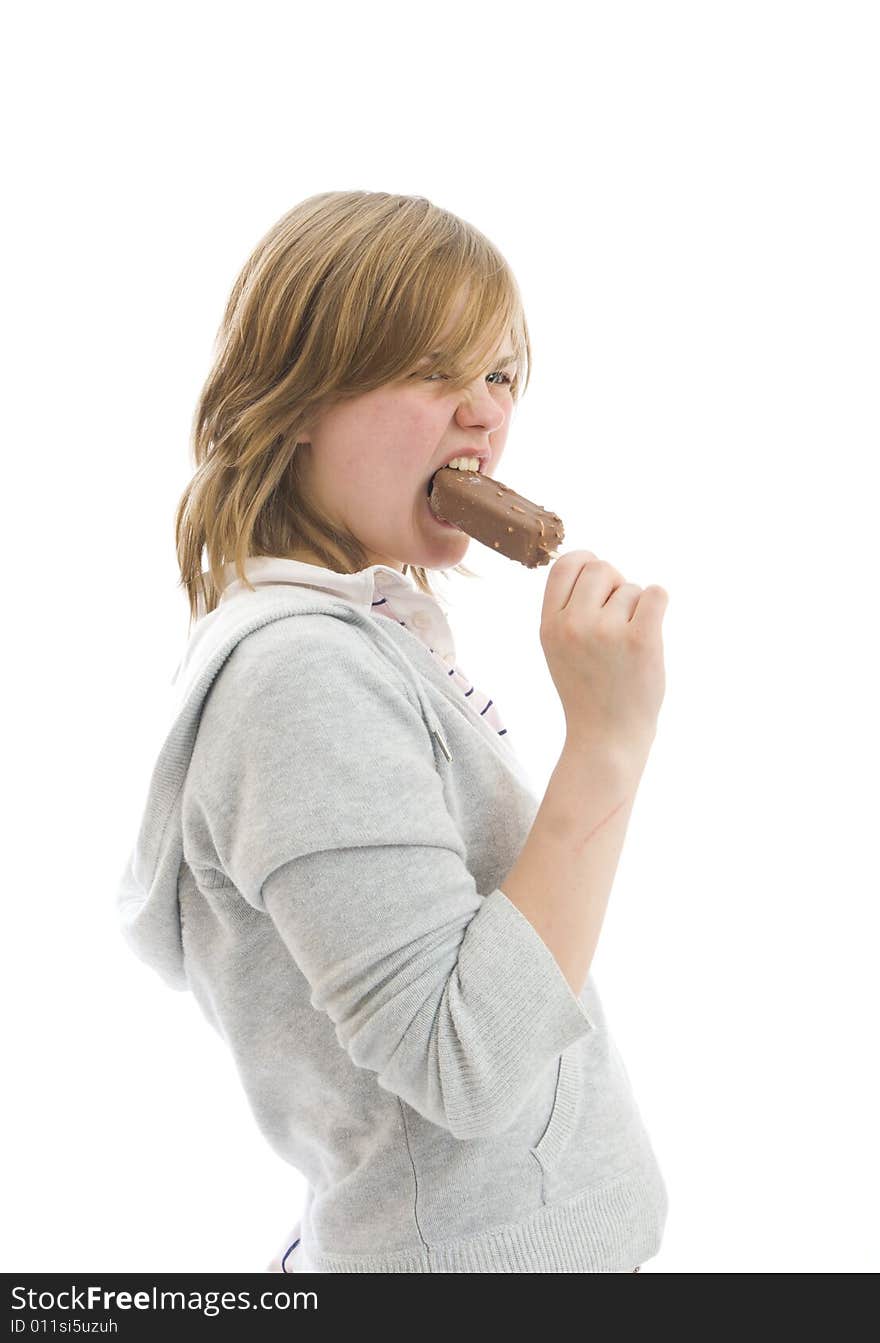
POLYGON ((555 548, 566 535, 559 514, 548 513, 490 475, 454 466, 434 473, 430 505, 435 517, 529 569, 555 559, 555 548))

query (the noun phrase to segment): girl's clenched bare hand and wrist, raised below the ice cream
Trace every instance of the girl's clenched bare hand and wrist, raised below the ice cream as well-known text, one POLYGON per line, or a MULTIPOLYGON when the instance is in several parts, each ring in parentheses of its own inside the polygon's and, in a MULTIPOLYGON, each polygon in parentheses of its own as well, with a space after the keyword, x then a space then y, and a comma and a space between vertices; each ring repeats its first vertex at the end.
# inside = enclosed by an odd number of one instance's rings
POLYGON ((567 749, 610 749, 644 768, 666 689, 668 602, 665 588, 625 583, 592 551, 554 561, 540 641, 566 713, 567 749))

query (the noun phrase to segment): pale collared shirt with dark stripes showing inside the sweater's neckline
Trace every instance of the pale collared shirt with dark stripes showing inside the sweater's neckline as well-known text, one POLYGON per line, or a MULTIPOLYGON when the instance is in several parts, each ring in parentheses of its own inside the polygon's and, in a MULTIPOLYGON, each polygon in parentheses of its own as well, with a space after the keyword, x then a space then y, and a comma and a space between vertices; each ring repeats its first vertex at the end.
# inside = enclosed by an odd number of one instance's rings
MULTIPOLYGON (((245 573, 254 587, 294 583, 318 588, 344 598, 373 616, 387 616, 406 626, 443 663, 451 684, 461 690, 473 712, 485 719, 498 736, 507 736, 508 729, 492 696, 476 686, 455 661, 455 641, 439 602, 416 587, 408 575, 388 564, 371 564, 357 573, 337 573, 304 560, 270 555, 249 556, 245 560, 245 573)), ((238 579, 235 564, 223 565, 223 577, 220 603, 226 596, 247 591, 238 579)))

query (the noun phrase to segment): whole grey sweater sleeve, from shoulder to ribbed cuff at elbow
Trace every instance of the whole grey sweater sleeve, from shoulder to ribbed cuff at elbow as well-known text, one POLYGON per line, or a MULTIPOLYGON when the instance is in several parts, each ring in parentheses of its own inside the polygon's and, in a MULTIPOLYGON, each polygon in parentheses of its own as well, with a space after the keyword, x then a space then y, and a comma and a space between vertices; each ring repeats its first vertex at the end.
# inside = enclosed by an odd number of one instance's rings
MULTIPOLYGON (((313 619, 242 641, 212 688, 203 821, 352 1062, 455 1138, 504 1132, 592 1023, 502 889, 477 892, 412 692, 357 631, 302 638, 313 619)), ((482 804, 490 826, 504 799, 482 804)))

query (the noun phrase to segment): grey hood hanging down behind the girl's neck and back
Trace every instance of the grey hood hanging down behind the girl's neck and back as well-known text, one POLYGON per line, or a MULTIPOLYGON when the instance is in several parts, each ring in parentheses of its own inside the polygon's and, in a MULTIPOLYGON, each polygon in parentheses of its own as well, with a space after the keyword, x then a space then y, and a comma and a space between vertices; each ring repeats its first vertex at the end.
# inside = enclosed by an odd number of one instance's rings
POLYGON ((271 620, 314 614, 356 624, 394 661, 412 686, 435 749, 451 759, 421 677, 383 629, 383 622, 352 603, 316 588, 285 586, 245 591, 203 615, 172 678, 172 724, 153 766, 137 839, 116 892, 116 912, 125 941, 171 988, 189 988, 177 900, 184 866, 181 795, 206 698, 240 639, 271 620))

